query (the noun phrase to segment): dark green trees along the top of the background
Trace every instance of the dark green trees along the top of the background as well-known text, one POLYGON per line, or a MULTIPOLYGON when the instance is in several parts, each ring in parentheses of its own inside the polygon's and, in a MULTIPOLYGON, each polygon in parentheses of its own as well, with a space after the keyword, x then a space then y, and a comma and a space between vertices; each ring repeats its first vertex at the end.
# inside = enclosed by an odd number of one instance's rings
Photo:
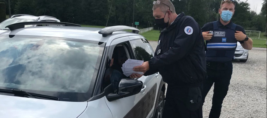
MULTIPOLYGON (((10 0, 12 14, 54 16, 61 22, 105 26, 128 25, 140 22, 147 27, 154 22, 152 6, 154 0, 10 0), (110 12, 110 15, 109 15, 110 12), (134 21, 133 21, 134 18, 134 21)), ((232 21, 245 30, 266 30, 266 0, 260 14, 250 10, 247 1, 237 1, 232 21)), ((8 0, 6 3, 8 14, 8 0)), ((172 0, 176 13, 192 16, 200 26, 219 19, 221 0, 172 0)))

